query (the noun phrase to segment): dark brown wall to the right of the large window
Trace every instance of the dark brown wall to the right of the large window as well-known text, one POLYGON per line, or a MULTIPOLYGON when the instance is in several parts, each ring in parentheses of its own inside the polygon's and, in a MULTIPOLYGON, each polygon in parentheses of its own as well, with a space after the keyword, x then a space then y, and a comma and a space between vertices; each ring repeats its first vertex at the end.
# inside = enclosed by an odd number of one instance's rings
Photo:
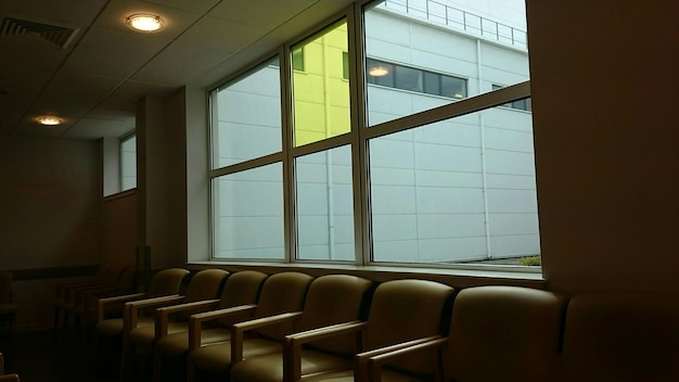
POLYGON ((528 0, 551 289, 679 290, 679 2, 528 0))

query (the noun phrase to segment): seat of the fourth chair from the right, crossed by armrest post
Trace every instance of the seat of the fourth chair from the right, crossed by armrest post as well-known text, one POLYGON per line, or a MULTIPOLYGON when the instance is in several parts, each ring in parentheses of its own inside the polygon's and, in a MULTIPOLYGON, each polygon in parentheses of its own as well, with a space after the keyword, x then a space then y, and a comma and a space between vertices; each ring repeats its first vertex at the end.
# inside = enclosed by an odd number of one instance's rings
MULTIPOLYGON (((328 370, 353 370, 350 359, 337 357, 312 349, 302 351, 302 374, 312 374, 328 370)), ((354 375, 349 373, 348 375, 354 375)), ((232 382, 280 382, 283 380, 283 358, 280 353, 257 357, 256 362, 247 358, 236 364, 231 370, 232 382)), ((305 378, 306 381, 306 378, 305 378)), ((317 381, 325 381, 322 378, 317 381)), ((354 381, 350 377, 347 381, 354 381)))

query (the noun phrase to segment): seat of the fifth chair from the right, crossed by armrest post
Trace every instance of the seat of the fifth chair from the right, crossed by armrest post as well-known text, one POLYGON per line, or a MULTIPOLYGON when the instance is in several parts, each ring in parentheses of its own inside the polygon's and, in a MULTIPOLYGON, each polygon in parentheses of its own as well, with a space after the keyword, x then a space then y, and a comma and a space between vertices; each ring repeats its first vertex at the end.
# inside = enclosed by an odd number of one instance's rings
MULTIPOLYGON (((271 353, 277 353, 279 355, 278 358, 280 358, 280 352, 281 344, 277 341, 253 339, 243 342, 243 359, 245 360, 248 357, 262 356, 271 353)), ((196 348, 191 352, 189 359, 202 370, 206 370, 210 373, 222 373, 229 369, 229 365, 231 364, 231 343, 217 343, 196 348)))

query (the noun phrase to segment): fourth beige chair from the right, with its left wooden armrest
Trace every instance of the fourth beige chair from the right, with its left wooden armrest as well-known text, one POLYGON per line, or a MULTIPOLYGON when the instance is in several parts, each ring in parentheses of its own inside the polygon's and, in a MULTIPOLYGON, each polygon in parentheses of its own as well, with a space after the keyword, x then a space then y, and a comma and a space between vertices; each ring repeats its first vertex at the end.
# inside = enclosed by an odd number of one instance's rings
MULTIPOLYGON (((371 285, 372 282, 369 280, 348 275, 329 275, 315 279, 307 292, 304 309, 302 316, 298 317, 295 331, 359 322, 362 318, 361 308, 364 306, 364 302, 369 300, 367 297, 369 297, 371 285)), ((243 340, 243 332, 296 317, 294 315, 279 315, 236 323, 231 340, 231 381, 271 380, 271 375, 281 380, 283 375, 282 341, 260 338, 243 340), (271 344, 272 341, 274 341, 273 344, 271 344), (276 352, 264 356, 253 357, 248 355, 258 347, 265 346, 276 349, 276 352)), ((354 353, 355 345, 351 338, 344 336, 319 342, 316 348, 335 354, 350 354, 354 353)))

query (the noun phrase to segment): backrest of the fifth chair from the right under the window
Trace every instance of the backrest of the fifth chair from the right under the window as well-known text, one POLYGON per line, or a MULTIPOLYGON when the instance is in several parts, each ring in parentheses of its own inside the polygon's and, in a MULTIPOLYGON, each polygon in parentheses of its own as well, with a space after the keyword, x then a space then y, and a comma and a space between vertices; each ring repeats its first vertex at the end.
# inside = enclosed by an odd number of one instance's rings
MULTIPOLYGON (((299 311, 313 278, 302 272, 285 271, 269 276, 261 285, 255 318, 299 311)), ((294 330, 293 322, 261 328, 259 335, 281 340, 294 330)))

